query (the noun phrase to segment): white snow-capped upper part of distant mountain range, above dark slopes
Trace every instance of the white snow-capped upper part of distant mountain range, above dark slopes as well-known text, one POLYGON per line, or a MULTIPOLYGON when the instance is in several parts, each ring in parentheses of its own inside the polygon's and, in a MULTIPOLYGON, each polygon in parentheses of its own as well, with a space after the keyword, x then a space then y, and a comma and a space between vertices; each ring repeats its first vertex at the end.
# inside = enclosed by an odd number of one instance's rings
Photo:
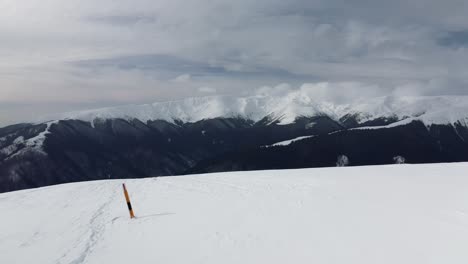
POLYGON ((257 95, 251 97, 211 96, 145 105, 102 108, 71 112, 42 118, 45 120, 78 119, 139 119, 196 122, 217 117, 241 117, 259 121, 265 117, 289 124, 298 117, 327 115, 335 120, 353 116, 359 123, 378 119, 421 120, 426 125, 463 125, 468 121, 468 96, 378 97, 349 104, 317 101, 303 91, 285 96, 257 95))

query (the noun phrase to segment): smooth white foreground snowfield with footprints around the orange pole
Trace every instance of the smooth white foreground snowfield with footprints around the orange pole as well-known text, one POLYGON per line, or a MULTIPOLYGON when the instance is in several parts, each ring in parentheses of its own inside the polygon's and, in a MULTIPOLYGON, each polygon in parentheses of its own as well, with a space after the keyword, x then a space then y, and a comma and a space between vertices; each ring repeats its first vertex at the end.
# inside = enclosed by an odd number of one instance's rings
POLYGON ((467 163, 74 183, 0 194, 0 263, 467 263, 467 163))

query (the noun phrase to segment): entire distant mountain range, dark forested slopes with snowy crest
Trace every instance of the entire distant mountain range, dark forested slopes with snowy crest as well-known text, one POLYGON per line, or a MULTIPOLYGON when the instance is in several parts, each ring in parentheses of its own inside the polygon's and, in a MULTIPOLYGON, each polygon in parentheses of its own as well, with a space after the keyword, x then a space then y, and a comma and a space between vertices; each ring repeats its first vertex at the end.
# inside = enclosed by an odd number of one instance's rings
POLYGON ((0 192, 97 179, 336 166, 340 155, 349 165, 390 164, 397 156, 409 163, 468 160, 468 111, 462 111, 468 100, 384 98, 330 106, 302 97, 241 99, 108 108, 0 128, 0 192))

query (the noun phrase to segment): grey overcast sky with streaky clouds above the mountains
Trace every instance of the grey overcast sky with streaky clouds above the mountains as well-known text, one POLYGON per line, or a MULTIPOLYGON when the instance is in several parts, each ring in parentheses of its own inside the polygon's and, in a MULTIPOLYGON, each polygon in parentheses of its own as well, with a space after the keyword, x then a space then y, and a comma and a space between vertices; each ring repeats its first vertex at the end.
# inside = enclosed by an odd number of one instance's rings
POLYGON ((468 94, 466 0, 0 0, 0 12, 0 126, 282 83, 468 94))

